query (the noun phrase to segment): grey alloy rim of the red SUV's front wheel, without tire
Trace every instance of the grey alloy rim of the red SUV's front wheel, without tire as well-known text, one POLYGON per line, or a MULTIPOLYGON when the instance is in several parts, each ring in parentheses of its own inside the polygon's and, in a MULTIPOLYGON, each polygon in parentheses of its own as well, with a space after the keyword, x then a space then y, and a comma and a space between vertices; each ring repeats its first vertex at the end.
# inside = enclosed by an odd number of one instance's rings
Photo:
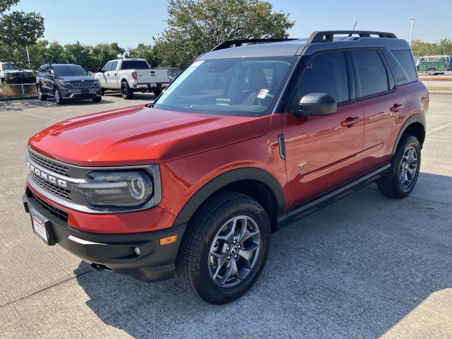
POLYGON ((256 220, 248 215, 228 220, 210 246, 210 278, 221 287, 238 285, 256 267, 260 245, 261 231, 256 220))

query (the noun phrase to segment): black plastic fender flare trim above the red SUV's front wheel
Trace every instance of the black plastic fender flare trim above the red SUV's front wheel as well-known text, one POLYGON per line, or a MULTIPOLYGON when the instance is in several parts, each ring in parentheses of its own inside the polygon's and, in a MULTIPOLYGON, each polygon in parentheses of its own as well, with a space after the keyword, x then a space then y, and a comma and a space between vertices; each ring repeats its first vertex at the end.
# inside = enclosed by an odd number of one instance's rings
POLYGON ((232 169, 229 172, 222 173, 210 180, 207 184, 198 189, 196 193, 189 198, 177 214, 174 220, 173 226, 182 225, 189 222, 191 216, 194 215, 199 206, 206 201, 215 191, 218 191, 222 187, 238 182, 241 180, 254 180, 261 182, 270 189, 275 196, 278 204, 278 215, 283 214, 285 211, 285 196, 283 188, 278 180, 273 177, 269 172, 256 168, 256 167, 244 167, 239 169, 232 169))

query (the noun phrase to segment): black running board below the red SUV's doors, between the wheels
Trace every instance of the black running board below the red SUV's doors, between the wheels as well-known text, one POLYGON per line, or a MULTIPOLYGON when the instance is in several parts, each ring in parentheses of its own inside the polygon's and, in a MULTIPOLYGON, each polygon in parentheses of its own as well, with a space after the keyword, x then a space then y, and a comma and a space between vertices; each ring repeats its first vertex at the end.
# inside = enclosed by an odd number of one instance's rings
POLYGON ((357 179, 353 179, 352 181, 346 182, 335 189, 327 191, 326 193, 321 194, 321 196, 317 196, 316 198, 300 203, 291 210, 287 211, 287 213, 278 217, 278 230, 289 225, 291 222, 295 222, 306 215, 314 213, 316 210, 320 210, 321 208, 328 206, 359 189, 362 189, 364 186, 375 182, 383 177, 390 168, 391 164, 388 163, 378 169, 367 172, 361 177, 357 177, 357 179))

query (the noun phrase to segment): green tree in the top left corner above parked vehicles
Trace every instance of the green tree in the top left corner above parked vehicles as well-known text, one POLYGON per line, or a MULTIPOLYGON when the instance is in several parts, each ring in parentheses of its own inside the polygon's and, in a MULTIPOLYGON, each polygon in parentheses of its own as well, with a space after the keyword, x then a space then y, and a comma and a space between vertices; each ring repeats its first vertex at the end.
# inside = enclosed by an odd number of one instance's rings
POLYGON ((0 0, 0 59, 24 65, 25 47, 34 45, 44 34, 44 18, 36 12, 9 11, 18 2, 0 0))

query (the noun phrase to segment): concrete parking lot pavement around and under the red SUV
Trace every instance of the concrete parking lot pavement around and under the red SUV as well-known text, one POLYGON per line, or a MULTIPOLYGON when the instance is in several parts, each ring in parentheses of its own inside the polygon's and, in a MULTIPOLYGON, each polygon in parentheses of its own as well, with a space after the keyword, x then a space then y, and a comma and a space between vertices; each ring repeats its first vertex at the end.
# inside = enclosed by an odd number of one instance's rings
POLYGON ((431 96, 417 187, 371 185, 273 234, 241 299, 205 304, 176 280, 93 272, 31 231, 25 143, 78 114, 150 102, 0 102, 1 338, 452 338, 452 96, 431 96))

